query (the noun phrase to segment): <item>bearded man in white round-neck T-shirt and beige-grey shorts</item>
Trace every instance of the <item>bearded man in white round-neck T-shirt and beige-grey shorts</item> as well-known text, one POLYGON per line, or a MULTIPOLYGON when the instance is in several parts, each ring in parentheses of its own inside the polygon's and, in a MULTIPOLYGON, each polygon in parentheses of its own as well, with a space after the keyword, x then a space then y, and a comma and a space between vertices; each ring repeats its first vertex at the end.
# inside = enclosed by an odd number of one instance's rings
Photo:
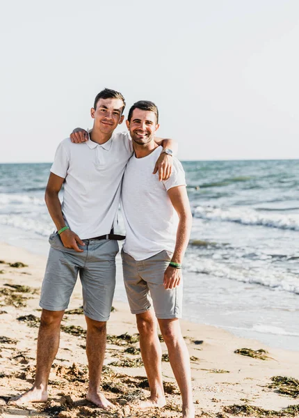
POLYGON ((191 367, 181 335, 181 264, 191 232, 192 215, 184 169, 174 158, 168 180, 152 175, 161 153, 154 141, 159 128, 155 104, 136 102, 129 110, 127 127, 134 146, 122 180, 121 205, 126 226, 122 248, 124 284, 132 314, 136 314, 140 351, 149 381, 150 398, 140 408, 163 407, 161 346, 154 312, 168 348, 172 370, 181 391, 183 418, 194 418, 191 367))

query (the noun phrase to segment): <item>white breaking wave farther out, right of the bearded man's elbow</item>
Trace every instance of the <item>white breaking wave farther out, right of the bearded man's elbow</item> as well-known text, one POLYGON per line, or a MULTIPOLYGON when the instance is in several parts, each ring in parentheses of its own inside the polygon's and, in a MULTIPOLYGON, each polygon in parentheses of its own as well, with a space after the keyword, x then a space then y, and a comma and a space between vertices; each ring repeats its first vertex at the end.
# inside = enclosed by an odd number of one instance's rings
POLYGON ((213 221, 237 222, 243 225, 268 226, 270 228, 291 229, 299 231, 299 215, 257 212, 251 208, 213 208, 197 206, 193 215, 213 221))

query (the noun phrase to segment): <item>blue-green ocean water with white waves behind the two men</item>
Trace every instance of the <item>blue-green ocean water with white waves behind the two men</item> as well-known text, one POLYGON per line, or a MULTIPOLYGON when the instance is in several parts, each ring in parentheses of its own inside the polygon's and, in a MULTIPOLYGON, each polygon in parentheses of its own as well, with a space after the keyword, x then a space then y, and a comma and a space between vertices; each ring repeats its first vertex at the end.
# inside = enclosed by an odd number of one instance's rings
MULTIPOLYGON (((193 212, 184 318, 298 350, 299 161, 183 165, 193 212)), ((50 167, 0 164, 1 240, 47 254, 50 167)), ((122 283, 115 297, 126 300, 122 283)))

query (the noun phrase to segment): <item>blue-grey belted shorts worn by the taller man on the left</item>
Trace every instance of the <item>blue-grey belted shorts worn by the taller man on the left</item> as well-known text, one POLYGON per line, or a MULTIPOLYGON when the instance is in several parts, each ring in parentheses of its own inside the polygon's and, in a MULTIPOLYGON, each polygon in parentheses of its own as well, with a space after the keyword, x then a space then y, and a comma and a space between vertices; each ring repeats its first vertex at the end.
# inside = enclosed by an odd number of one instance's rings
POLYGON ((88 318, 109 319, 115 289, 115 240, 83 240, 83 252, 65 248, 58 233, 49 238, 49 258, 42 282, 40 307, 64 311, 70 302, 78 273, 83 288, 83 309, 88 318))

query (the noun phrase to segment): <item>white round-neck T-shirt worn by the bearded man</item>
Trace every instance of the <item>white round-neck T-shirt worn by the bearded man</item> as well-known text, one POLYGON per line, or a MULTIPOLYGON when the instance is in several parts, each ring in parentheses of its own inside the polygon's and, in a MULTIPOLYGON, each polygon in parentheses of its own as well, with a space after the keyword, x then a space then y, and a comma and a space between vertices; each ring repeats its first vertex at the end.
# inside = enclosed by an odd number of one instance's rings
POLYGON ((171 252, 175 249, 179 217, 167 191, 186 185, 186 180, 184 169, 175 157, 168 180, 160 182, 158 173, 152 173, 161 150, 159 146, 143 158, 134 154, 122 180, 121 206, 127 231, 124 252, 137 261, 164 249, 171 252))

